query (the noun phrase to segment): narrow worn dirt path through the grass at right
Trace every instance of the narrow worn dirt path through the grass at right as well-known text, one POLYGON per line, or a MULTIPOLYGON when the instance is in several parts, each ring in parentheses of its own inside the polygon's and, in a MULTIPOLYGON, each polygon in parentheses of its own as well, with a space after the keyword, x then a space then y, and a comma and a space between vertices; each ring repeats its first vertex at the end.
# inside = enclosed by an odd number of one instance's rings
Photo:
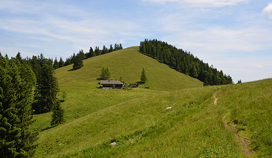
MULTIPOLYGON (((218 98, 216 98, 216 95, 214 95, 215 102, 214 104, 217 105, 218 98)), ((222 121, 224 122, 225 127, 231 131, 231 133, 236 137, 236 140, 241 145, 242 151, 245 154, 246 157, 256 157, 252 151, 252 149, 249 147, 251 144, 251 141, 247 138, 243 138, 238 134, 238 130, 233 124, 228 124, 228 121, 226 120, 226 116, 222 118, 222 121)))

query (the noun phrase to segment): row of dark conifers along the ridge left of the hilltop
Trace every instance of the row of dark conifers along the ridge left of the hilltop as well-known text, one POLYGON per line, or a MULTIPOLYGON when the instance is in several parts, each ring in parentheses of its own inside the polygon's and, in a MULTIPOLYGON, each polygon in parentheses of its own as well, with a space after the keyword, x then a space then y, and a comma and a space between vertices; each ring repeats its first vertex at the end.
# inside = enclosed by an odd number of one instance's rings
POLYGON ((54 67, 54 69, 57 69, 59 67, 74 64, 73 68, 75 68, 75 69, 81 68, 83 66, 82 60, 84 60, 84 59, 98 56, 98 55, 107 54, 112 51, 120 50, 120 49, 123 49, 121 43, 120 44, 115 43, 114 48, 113 48, 112 44, 110 44, 109 48, 107 48, 105 45, 103 45, 102 49, 100 49, 99 46, 96 46, 94 50, 92 47, 90 47, 89 52, 86 52, 86 53, 84 53, 83 50, 81 49, 79 51, 79 53, 77 53, 77 54, 74 53, 70 57, 66 58, 65 61, 63 61, 63 59, 61 57, 59 58, 59 61, 57 61, 57 58, 55 57, 54 62, 53 62, 53 67, 54 67))

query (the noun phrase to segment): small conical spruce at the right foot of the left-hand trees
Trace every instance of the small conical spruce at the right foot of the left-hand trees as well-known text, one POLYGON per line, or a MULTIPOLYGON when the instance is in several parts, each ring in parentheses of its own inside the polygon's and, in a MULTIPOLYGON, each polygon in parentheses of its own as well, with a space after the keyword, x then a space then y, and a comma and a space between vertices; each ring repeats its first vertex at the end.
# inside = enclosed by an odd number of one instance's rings
POLYGON ((64 110, 60 106, 60 102, 57 101, 56 106, 53 108, 51 126, 57 126, 64 122, 64 110))

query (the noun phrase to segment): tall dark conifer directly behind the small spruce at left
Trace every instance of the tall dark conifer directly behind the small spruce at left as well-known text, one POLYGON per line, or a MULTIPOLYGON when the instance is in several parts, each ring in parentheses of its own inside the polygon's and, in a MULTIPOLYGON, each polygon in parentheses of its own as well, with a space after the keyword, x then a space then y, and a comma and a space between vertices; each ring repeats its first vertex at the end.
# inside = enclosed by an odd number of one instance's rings
POLYGON ((35 90, 33 109, 36 110, 36 113, 49 112, 56 105, 59 88, 54 73, 51 62, 48 59, 44 59, 40 76, 37 77, 35 90))

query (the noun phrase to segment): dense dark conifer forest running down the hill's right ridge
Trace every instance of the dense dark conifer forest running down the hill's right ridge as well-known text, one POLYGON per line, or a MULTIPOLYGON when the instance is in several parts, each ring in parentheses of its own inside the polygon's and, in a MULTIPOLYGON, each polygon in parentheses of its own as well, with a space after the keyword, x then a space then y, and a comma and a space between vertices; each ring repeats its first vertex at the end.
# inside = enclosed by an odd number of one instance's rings
POLYGON ((190 52, 178 49, 167 42, 145 39, 140 43, 140 51, 179 72, 197 78, 203 82, 204 86, 233 84, 230 75, 224 74, 222 70, 217 70, 213 65, 209 66, 190 52))

